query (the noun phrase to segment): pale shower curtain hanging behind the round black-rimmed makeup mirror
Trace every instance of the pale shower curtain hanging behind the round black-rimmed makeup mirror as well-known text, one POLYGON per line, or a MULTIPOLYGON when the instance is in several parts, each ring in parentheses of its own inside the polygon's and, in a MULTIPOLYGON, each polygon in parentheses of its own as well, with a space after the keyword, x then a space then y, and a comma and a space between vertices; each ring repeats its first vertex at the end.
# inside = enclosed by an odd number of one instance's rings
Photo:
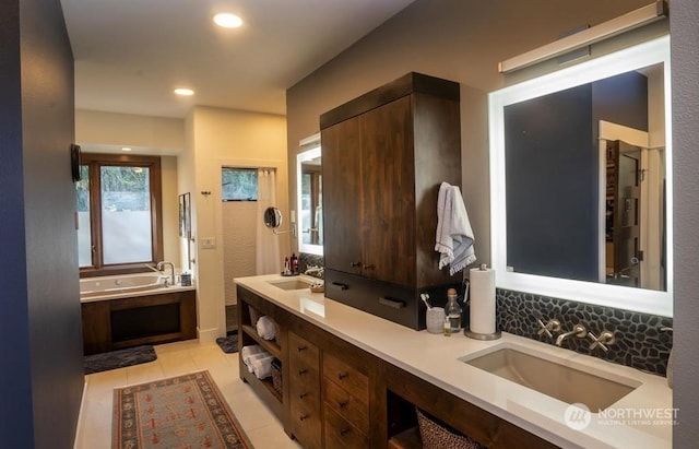
POLYGON ((281 271, 279 236, 264 225, 262 216, 266 208, 276 206, 276 173, 274 169, 258 170, 258 217, 257 217, 257 274, 272 274, 281 271))

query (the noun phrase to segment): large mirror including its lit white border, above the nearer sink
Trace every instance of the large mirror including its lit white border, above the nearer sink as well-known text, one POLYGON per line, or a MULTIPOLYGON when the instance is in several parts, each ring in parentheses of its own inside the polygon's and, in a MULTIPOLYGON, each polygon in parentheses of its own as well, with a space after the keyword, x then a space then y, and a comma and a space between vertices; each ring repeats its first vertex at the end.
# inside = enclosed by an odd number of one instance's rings
POLYGON ((672 316, 670 37, 489 95, 497 285, 672 316))

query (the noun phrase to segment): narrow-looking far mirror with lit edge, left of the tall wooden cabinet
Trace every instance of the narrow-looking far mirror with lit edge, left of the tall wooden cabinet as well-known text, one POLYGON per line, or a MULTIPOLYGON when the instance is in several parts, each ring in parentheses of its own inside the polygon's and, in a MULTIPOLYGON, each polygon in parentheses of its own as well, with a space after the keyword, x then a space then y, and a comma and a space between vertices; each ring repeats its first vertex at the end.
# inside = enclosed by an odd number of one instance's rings
POLYGON ((298 250, 323 255, 323 193, 320 134, 301 141, 296 156, 298 250))

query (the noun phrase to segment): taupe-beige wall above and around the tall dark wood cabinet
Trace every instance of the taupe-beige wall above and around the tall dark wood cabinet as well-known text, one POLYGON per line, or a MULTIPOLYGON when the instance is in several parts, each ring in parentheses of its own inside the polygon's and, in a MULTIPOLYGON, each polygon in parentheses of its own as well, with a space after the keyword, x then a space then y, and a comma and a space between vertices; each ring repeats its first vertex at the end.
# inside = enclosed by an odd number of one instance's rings
MULTIPOLYGON (((299 140, 319 131, 318 117, 348 99, 411 71, 458 81, 462 83, 462 190, 476 256, 489 263, 485 95, 506 83, 497 63, 548 44, 568 29, 599 24, 648 3, 417 0, 287 91, 289 164, 295 164, 299 140)), ((294 186, 295 173, 291 181, 294 186)))

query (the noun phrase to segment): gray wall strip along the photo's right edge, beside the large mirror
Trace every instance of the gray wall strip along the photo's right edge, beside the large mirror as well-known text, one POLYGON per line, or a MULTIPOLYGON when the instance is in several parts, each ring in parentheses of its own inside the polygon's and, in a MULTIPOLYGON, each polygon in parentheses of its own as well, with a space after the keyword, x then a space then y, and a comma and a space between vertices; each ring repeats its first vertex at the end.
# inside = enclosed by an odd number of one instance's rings
POLYGON ((672 1, 676 448, 699 441, 699 2, 672 1))

